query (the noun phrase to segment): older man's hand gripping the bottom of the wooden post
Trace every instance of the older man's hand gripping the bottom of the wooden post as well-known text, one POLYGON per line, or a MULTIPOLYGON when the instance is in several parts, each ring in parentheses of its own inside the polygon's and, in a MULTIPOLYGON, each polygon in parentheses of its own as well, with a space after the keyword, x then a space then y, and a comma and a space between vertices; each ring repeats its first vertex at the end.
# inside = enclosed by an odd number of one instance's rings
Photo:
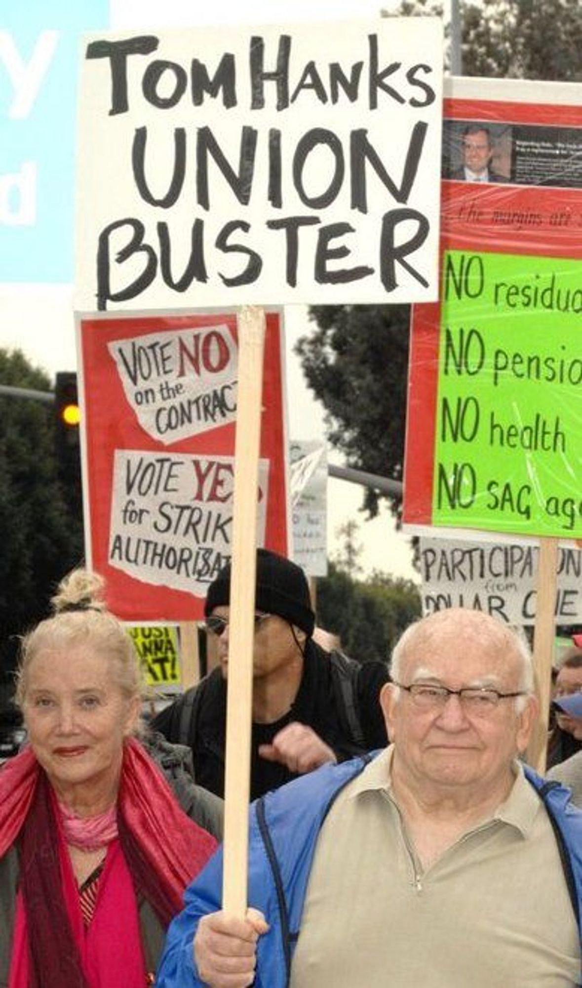
POLYGON ((257 909, 203 916, 194 937, 198 974, 210 988, 247 988, 255 980, 256 942, 268 923, 257 909))

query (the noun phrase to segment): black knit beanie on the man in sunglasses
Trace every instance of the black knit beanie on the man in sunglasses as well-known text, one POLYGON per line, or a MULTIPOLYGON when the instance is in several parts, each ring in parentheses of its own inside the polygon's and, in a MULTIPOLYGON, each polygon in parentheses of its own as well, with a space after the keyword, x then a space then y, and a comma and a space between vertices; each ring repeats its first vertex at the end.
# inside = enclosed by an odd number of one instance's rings
MULTIPOLYGON (((230 604, 231 564, 228 563, 208 587, 204 614, 230 604)), ((284 617, 300 627, 308 637, 314 631, 316 616, 311 607, 309 585, 301 566, 268 549, 256 550, 255 608, 264 614, 284 617)))

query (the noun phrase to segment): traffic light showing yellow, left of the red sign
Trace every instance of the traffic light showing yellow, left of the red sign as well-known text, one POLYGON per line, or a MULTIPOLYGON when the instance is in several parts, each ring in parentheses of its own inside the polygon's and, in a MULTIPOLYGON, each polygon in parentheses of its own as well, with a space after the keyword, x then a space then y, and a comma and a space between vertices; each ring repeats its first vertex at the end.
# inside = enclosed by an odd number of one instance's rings
POLYGON ((55 453, 58 475, 72 508, 81 506, 79 400, 75 371, 58 371, 54 384, 55 453))

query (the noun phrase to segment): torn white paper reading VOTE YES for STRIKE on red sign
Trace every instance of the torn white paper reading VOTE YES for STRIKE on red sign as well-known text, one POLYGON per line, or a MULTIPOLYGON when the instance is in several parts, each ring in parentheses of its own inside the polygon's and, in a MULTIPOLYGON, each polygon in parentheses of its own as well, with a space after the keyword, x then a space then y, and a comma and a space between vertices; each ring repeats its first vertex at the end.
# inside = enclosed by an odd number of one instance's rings
MULTIPOLYGON (((109 565, 155 586, 203 597, 231 558, 234 471, 234 456, 115 450, 109 565)), ((268 461, 261 459, 259 544, 267 483, 268 461)))

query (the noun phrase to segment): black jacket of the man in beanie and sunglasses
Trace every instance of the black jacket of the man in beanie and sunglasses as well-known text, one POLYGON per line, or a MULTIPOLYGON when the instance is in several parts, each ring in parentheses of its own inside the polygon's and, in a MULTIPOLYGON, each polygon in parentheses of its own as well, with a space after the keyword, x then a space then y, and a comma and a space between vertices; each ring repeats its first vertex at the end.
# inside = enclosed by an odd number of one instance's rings
MULTIPOLYGON (((312 727, 333 750, 338 762, 387 744, 384 716, 378 700, 380 690, 389 679, 387 666, 383 662, 355 664, 359 668, 354 679, 353 700, 363 735, 357 738, 334 679, 330 655, 309 639, 301 684, 291 709, 275 723, 253 724, 252 799, 297 778, 286 766, 267 762, 258 755, 258 746, 269 744, 275 734, 292 721, 312 727)), ((152 726, 175 744, 187 741, 192 749, 198 785, 219 796, 224 795, 226 683, 220 669, 214 669, 197 686, 165 707, 154 718, 152 726)))

